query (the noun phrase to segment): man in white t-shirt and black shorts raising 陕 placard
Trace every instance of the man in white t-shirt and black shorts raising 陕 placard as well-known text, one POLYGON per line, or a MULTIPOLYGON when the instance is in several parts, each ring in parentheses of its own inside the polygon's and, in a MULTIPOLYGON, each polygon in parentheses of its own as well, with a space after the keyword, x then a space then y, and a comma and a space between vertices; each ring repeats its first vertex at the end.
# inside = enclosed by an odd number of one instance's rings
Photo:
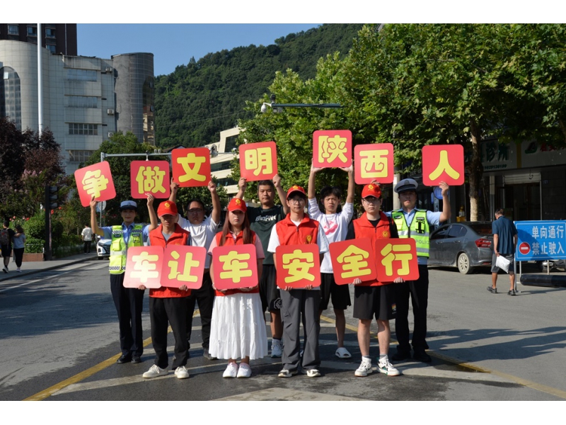
MULTIPOLYGON (((320 222, 320 227, 324 230, 328 243, 342 242, 346 239, 348 232, 348 223, 354 215, 354 167, 341 168, 348 174, 348 193, 346 203, 342 211, 338 212, 340 207, 340 198, 342 191, 340 188, 333 186, 325 186, 320 189, 320 202, 324 205, 325 212, 321 212, 318 208, 315 190, 315 175, 322 169, 311 166, 311 175, 308 178, 308 215, 313 220, 320 222)), ((337 358, 351 358, 352 354, 344 346, 344 334, 346 331, 346 317, 344 311, 349 305, 350 288, 348 285, 337 285, 334 280, 332 262, 330 261, 330 252, 324 254, 323 262, 320 263, 320 307, 318 314, 322 314, 323 310, 328 308, 328 301, 332 297, 332 305, 336 317, 336 338, 338 348, 336 350, 337 358)))

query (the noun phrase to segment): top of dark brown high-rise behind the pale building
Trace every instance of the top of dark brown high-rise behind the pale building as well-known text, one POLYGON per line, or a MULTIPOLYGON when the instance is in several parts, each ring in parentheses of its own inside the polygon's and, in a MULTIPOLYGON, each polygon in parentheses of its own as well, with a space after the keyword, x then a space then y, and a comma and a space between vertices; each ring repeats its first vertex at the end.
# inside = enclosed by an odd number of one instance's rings
MULTIPOLYGON (((76 23, 44 23, 41 45, 52 53, 76 56, 76 23)), ((37 45, 37 23, 0 23, 0 40, 37 45)))

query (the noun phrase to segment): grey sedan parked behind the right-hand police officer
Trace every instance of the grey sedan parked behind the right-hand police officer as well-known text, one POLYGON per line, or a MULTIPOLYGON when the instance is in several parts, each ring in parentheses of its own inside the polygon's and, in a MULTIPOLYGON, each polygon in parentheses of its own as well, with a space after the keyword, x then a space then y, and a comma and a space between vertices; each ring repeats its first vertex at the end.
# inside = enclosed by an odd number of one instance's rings
POLYGON ((490 266, 491 222, 458 222, 442 225, 430 234, 429 266, 457 267, 469 274, 475 267, 490 266))

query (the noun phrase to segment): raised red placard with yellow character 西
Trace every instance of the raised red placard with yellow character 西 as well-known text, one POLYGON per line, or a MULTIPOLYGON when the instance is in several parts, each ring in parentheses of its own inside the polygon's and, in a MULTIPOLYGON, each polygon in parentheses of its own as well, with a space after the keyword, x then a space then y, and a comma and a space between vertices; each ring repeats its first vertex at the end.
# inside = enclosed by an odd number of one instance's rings
POLYGON ((354 147, 354 179, 357 184, 393 183, 393 144, 377 143, 354 147))

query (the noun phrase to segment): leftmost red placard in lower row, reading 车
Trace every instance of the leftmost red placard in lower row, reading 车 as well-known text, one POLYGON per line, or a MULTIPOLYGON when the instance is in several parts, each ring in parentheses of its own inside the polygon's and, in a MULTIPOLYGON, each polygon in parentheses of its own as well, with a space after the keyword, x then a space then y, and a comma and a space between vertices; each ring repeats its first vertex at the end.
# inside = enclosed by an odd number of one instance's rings
POLYGON ((124 288, 161 288, 163 248, 161 246, 132 246, 128 248, 124 288))

